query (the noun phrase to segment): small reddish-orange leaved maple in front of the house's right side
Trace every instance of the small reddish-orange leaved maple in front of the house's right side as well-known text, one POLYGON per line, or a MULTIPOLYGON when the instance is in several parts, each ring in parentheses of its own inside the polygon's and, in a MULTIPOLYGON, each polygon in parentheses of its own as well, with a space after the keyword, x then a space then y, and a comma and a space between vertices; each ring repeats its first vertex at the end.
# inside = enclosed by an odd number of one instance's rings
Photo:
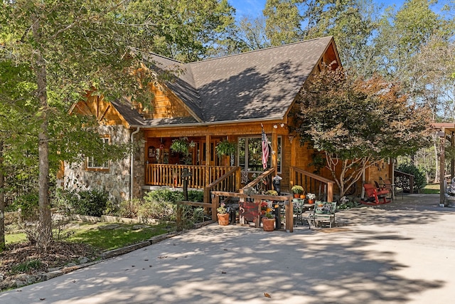
POLYGON ((407 105, 400 86, 380 76, 354 79, 342 68, 315 75, 299 97, 296 132, 325 153, 340 197, 380 159, 428 145, 431 116, 407 105))

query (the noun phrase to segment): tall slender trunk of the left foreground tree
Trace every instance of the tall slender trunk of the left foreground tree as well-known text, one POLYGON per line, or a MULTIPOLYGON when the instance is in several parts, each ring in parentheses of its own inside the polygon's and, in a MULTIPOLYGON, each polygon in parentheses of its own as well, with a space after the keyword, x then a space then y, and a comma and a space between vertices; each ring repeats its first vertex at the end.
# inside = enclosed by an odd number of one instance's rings
POLYGON ((38 157, 39 157, 39 179, 38 179, 38 206, 39 206, 39 224, 37 245, 47 248, 52 241, 52 219, 50 217, 49 202, 49 145, 48 145, 48 93, 47 93, 47 75, 45 60, 40 48, 41 29, 39 19, 32 14, 33 21, 33 38, 36 41, 34 50, 36 83, 38 85, 37 97, 41 105, 41 130, 38 134, 38 157))

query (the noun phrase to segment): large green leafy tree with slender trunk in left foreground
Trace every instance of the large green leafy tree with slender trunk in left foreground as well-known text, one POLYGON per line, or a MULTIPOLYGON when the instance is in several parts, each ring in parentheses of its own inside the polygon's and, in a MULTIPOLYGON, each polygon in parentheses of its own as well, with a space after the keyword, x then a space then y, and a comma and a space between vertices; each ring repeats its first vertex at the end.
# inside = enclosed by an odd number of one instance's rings
MULTIPOLYGON (((185 1, 191 11, 177 11, 178 18, 171 18, 173 11, 168 11, 168 6, 173 2, 17 0, 0 5, 0 63, 9 61, 25 67, 30 73, 24 74, 21 82, 33 84, 28 103, 31 110, 19 112, 28 118, 20 125, 27 138, 35 139, 28 150, 37 155, 39 164, 39 245, 45 246, 52 239, 48 189, 50 174, 58 164, 53 159, 58 155, 60 159, 83 156, 89 138, 95 147, 102 148, 99 151, 107 148, 94 134, 82 136, 83 121, 68 115, 70 105, 86 98, 87 91, 102 93, 107 100, 127 96, 145 104, 151 98, 147 85, 160 74, 144 68, 144 53, 168 41, 189 56, 193 48, 183 48, 189 34, 203 44, 223 31, 225 23, 213 20, 230 18, 229 11, 218 14, 213 9, 218 3, 215 0, 193 1, 191 5, 185 1), (199 14, 205 19, 198 19, 199 14), (196 25, 186 27, 185 21, 192 20, 196 25)), ((228 7, 227 1, 220 1, 222 4, 228 7)), ((11 100, 9 109, 19 108, 18 100, 6 95, 11 100)), ((20 137, 12 133, 12 137, 20 137)))

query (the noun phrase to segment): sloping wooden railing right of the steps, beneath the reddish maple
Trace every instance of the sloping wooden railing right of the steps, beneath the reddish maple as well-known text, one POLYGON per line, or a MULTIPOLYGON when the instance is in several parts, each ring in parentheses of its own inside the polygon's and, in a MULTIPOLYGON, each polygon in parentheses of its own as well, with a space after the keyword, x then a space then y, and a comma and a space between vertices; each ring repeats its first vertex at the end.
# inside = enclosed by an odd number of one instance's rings
POLYGON ((316 199, 324 201, 333 201, 333 185, 332 180, 320 177, 314 173, 306 172, 297 167, 291 167, 289 170, 289 189, 292 186, 299 184, 304 187, 306 193, 316 194, 316 199))

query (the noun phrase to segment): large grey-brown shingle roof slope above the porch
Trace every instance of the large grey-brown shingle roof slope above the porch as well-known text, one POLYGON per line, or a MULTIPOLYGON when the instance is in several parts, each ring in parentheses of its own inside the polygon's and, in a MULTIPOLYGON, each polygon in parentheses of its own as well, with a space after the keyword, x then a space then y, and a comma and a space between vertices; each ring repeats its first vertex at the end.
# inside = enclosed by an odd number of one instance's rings
POLYGON ((188 64, 153 59, 160 68, 184 68, 166 85, 203 122, 282 119, 331 41, 316 38, 188 64))

